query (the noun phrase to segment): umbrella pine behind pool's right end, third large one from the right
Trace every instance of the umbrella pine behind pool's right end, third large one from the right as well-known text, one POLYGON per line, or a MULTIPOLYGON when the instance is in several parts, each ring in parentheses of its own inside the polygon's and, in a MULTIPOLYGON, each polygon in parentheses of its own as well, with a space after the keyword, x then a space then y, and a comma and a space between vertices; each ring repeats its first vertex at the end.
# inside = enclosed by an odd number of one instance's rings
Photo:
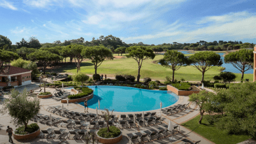
POLYGON ((175 71, 179 70, 186 63, 188 63, 186 56, 177 50, 167 50, 163 55, 163 59, 160 60, 162 66, 169 67, 173 70, 173 81, 175 71))

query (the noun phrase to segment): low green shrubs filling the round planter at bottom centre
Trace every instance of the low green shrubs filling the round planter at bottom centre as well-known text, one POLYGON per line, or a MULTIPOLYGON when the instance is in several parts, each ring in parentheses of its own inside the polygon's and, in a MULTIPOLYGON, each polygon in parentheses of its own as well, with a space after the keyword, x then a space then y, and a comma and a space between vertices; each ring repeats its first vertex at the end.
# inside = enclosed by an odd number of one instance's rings
POLYGON ((100 130, 98 130, 98 135, 104 138, 117 137, 120 134, 121 131, 119 128, 116 128, 116 126, 110 126, 110 132, 108 132, 108 128, 100 128, 100 130))

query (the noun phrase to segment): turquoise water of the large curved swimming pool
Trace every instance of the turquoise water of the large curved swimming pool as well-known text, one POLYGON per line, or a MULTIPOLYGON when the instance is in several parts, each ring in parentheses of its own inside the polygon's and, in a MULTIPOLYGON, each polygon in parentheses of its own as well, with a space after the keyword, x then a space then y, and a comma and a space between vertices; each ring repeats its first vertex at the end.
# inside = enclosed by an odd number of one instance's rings
MULTIPOLYGON (((110 109, 118 112, 150 111, 173 105, 179 97, 167 90, 144 90, 127 86, 88 86, 93 89, 93 99, 88 101, 88 107, 110 109)), ((84 105, 83 101, 79 103, 84 105)))

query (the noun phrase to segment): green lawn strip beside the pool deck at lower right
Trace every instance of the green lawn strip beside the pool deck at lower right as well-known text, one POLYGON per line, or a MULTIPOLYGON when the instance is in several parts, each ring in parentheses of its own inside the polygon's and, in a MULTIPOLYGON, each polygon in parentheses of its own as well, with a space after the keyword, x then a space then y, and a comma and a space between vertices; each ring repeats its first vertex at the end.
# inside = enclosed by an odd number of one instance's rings
POLYGON ((246 139, 251 138, 248 135, 228 135, 223 130, 217 129, 214 125, 205 124, 206 122, 204 119, 202 120, 202 124, 198 124, 199 118, 200 115, 193 118, 192 120, 189 120, 188 122, 184 122, 181 125, 202 135, 206 139, 209 139, 210 141, 213 141, 213 143, 216 144, 240 143, 242 141, 245 141, 246 139))

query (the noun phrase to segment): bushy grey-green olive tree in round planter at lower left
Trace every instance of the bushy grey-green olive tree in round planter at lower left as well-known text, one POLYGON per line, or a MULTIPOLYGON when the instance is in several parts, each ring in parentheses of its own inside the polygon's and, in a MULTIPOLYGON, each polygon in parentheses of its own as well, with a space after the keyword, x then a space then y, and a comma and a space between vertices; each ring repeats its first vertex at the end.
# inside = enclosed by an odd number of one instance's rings
POLYGON ((20 126, 14 131, 14 139, 32 139, 40 134, 40 128, 37 124, 28 125, 28 120, 39 113, 40 107, 40 100, 30 97, 26 88, 20 94, 17 90, 11 91, 11 94, 3 102, 0 113, 8 113, 11 115, 11 122, 15 126, 20 126))

